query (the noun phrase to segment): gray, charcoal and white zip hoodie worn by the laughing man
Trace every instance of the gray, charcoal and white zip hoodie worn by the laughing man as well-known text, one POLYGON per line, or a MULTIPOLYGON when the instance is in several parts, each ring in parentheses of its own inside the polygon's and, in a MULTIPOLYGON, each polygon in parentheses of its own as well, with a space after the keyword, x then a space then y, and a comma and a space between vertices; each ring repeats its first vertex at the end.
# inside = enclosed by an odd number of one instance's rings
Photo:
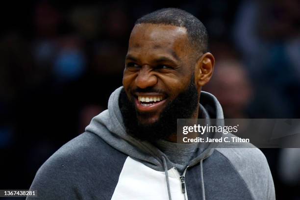
MULTIPOLYGON (((162 151, 126 134, 118 103, 122 88, 84 133, 42 165, 30 187, 38 198, 32 199, 275 200, 267 160, 251 144, 209 145, 178 173, 162 151)), ((200 104, 211 118, 224 118, 213 95, 201 92, 200 104)))

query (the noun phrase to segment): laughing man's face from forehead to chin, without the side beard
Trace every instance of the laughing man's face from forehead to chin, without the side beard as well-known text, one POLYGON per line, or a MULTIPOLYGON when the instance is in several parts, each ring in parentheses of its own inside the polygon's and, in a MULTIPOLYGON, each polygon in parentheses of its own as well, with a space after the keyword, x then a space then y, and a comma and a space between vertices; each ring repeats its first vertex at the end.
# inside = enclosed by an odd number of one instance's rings
MULTIPOLYGON (((140 125, 158 122, 166 106, 189 88, 194 81, 191 57, 184 27, 135 25, 125 58, 123 86, 140 125)), ((193 92, 197 93, 195 87, 193 92)))

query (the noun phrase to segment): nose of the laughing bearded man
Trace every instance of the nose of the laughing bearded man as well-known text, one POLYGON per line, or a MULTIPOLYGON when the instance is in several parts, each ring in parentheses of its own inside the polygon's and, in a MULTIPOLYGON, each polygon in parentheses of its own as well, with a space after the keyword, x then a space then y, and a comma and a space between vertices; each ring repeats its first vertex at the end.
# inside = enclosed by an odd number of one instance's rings
POLYGON ((157 77, 152 74, 151 70, 147 66, 143 66, 137 77, 135 78, 135 84, 139 88, 152 87, 157 83, 157 77))

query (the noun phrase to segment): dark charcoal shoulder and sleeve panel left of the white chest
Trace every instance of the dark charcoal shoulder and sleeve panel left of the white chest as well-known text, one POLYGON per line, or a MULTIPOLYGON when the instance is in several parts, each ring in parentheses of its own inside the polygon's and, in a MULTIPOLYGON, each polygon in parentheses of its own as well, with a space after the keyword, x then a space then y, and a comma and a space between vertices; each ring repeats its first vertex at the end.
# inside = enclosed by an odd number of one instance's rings
POLYGON ((30 188, 38 190, 38 199, 110 200, 126 157, 97 135, 85 132, 42 165, 30 188))

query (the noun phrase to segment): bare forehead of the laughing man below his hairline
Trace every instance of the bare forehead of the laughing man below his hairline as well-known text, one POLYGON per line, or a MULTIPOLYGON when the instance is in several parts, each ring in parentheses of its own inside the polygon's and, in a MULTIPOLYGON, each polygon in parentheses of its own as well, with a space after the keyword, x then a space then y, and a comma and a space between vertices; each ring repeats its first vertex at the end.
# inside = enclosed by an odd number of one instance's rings
POLYGON ((188 44, 185 27, 139 24, 132 29, 128 51, 168 51, 182 54, 188 44))

